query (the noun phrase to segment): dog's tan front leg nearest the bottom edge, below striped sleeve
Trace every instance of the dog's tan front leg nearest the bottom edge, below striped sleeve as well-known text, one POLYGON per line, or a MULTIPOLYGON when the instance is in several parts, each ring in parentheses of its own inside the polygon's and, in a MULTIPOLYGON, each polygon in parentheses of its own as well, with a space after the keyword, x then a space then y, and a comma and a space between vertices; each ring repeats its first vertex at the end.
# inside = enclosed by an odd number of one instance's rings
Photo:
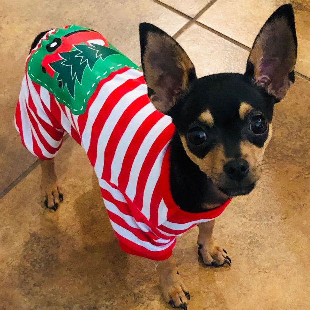
POLYGON ((190 295, 177 271, 176 259, 173 255, 159 262, 160 286, 163 297, 173 308, 187 310, 190 295))

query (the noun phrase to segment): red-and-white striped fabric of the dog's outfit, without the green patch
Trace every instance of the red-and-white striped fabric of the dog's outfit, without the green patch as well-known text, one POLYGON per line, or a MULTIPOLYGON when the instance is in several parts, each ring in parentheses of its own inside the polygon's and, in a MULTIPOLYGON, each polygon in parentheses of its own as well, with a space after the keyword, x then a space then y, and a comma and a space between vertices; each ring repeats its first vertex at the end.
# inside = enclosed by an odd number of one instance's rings
MULTIPOLYGON (((125 252, 167 259, 176 236, 218 217, 229 204, 227 201, 210 211, 189 213, 174 203, 169 143, 175 128, 171 118, 149 101, 140 70, 125 66, 109 72, 81 115, 59 103, 28 73, 26 70, 15 114, 23 144, 35 156, 48 160, 57 154, 66 131, 85 149, 125 252)), ((92 74, 96 78, 102 72, 93 69, 92 74)))

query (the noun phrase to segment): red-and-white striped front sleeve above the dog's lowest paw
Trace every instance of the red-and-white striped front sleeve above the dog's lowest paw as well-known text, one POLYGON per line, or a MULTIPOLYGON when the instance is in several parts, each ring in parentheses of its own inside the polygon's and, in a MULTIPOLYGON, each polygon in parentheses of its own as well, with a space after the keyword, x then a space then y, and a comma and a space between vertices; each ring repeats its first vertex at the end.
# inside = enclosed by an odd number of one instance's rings
POLYGON ((169 258, 176 237, 155 231, 156 228, 116 186, 102 179, 99 182, 111 225, 122 250, 152 260, 169 258))

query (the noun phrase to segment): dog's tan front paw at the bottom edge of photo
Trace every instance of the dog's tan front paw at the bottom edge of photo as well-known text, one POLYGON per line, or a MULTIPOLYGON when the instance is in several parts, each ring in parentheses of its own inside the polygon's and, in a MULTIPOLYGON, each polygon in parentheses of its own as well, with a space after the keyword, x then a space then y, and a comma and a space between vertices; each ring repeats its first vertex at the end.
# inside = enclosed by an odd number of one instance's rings
POLYGON ((185 287, 179 273, 161 278, 160 286, 163 297, 172 308, 187 310, 190 294, 185 287))

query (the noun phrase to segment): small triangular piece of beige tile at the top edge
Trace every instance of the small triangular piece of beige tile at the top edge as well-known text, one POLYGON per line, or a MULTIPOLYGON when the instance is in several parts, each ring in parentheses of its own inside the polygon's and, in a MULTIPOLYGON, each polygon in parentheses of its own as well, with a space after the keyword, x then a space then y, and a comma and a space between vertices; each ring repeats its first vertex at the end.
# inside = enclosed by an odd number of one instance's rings
POLYGON ((211 0, 160 0, 160 2, 170 5, 190 17, 194 17, 211 0))

